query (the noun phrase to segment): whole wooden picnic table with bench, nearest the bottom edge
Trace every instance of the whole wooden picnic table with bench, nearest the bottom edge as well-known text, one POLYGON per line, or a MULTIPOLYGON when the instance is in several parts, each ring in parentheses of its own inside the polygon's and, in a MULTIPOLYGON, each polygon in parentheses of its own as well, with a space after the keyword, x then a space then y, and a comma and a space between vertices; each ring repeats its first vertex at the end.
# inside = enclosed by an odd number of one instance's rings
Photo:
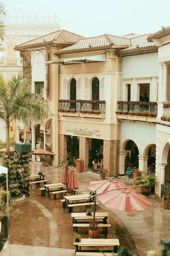
MULTIPOLYGON (((81 239, 81 242, 75 242, 74 243, 76 247, 76 252, 90 252, 91 248, 89 250, 81 250, 81 247, 113 247, 113 250, 105 250, 105 252, 112 252, 117 253, 118 247, 119 247, 119 239, 81 239), (79 247, 79 249, 78 249, 79 247)), ((93 252, 99 252, 100 250, 92 250, 93 252)))

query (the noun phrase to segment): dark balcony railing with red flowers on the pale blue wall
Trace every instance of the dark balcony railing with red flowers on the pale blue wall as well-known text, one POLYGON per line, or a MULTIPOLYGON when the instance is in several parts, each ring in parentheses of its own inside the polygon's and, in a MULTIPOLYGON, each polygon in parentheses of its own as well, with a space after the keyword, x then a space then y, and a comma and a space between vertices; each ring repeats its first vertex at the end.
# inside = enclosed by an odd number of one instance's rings
POLYGON ((145 101, 118 101, 118 111, 131 113, 151 113, 157 114, 157 102, 145 101))

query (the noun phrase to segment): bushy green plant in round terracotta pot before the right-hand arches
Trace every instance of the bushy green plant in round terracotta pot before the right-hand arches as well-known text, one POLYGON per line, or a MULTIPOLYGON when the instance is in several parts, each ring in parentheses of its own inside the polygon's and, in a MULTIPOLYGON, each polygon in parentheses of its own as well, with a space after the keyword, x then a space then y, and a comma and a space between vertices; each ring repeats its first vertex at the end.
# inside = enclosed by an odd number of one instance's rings
POLYGON ((141 186, 141 193, 144 196, 149 196, 151 187, 157 185, 157 177, 155 174, 148 174, 144 172, 144 176, 138 176, 134 178, 136 184, 135 189, 139 184, 142 184, 141 186))

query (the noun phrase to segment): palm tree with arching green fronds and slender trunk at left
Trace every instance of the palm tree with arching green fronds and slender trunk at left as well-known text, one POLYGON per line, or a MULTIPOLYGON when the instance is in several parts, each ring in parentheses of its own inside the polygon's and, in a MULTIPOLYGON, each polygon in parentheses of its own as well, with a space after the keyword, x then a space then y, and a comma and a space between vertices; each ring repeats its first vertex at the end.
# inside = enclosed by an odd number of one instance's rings
POLYGON ((52 117, 47 108, 46 100, 40 94, 33 93, 30 78, 24 73, 11 77, 5 81, 0 75, 0 120, 7 126, 7 153, 10 153, 9 127, 12 121, 24 124, 41 120, 43 117, 52 117))

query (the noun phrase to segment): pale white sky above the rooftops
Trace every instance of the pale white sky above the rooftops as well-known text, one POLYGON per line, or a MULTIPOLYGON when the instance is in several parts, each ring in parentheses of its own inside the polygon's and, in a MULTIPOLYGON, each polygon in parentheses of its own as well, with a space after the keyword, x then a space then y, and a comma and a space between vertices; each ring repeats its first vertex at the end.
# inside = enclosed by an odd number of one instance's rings
POLYGON ((145 34, 170 26, 170 0, 4 0, 15 17, 54 16, 61 28, 85 37, 145 34))

